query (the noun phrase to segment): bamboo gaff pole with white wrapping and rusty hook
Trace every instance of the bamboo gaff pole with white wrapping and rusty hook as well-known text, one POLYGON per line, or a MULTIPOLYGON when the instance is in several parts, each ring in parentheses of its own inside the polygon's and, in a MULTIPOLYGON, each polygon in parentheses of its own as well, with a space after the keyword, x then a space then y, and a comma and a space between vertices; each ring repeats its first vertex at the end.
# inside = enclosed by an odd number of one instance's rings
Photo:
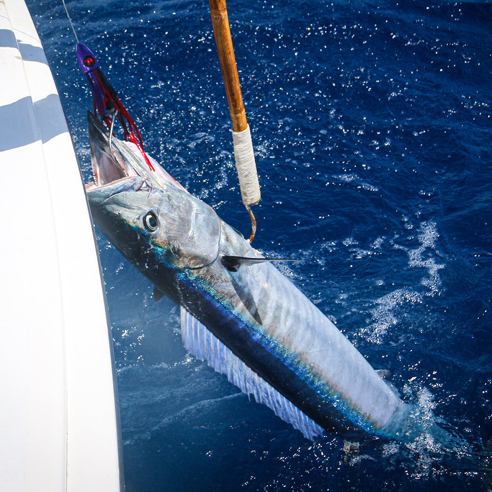
POLYGON ((251 212, 251 206, 260 201, 260 185, 256 173, 251 133, 246 121, 246 111, 239 83, 238 68, 232 46, 231 29, 227 15, 225 0, 209 0, 210 15, 214 28, 215 44, 217 45, 218 59, 225 93, 232 122, 232 139, 234 144, 234 158, 238 171, 241 196, 251 219, 251 235, 249 242, 256 232, 256 219, 251 212))

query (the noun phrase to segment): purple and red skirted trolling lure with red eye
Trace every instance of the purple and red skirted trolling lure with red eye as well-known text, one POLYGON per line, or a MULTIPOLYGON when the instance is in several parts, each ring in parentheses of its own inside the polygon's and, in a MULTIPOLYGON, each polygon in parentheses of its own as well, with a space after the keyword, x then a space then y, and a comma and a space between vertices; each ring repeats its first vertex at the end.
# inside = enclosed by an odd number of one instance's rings
POLYGON ((144 144, 137 125, 128 114, 118 94, 104 75, 94 54, 83 43, 77 43, 75 51, 80 68, 86 74, 89 87, 91 88, 94 114, 99 114, 101 120, 110 129, 111 134, 113 134, 115 119, 118 119, 123 127, 124 139, 130 140, 138 147, 150 169, 155 171, 154 166, 144 151, 144 144))

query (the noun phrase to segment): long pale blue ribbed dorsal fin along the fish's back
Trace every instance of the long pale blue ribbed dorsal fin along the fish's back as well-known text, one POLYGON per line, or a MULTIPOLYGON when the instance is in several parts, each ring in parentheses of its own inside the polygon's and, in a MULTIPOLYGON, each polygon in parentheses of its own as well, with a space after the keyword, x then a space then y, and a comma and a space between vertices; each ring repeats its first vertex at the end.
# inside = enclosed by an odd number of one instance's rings
POLYGON ((197 359, 221 374, 246 395, 271 408, 283 421, 301 431, 307 439, 323 434, 323 429, 282 396, 232 353, 215 335, 181 307, 181 336, 184 346, 197 359))

